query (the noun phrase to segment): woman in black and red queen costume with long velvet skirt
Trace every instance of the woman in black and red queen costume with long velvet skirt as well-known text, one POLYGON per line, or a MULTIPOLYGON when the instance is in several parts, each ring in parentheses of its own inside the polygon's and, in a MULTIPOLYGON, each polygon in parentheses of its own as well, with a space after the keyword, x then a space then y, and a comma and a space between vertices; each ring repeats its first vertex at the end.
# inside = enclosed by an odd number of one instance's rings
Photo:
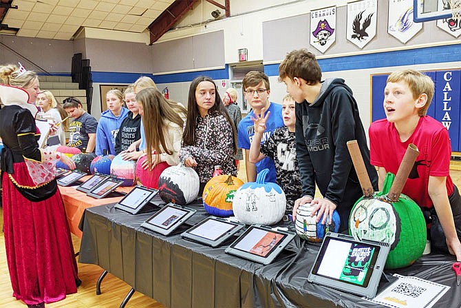
MULTIPOLYGON (((74 247, 54 174, 56 161, 75 168, 59 152, 37 143, 35 72, 0 65, 3 231, 13 296, 28 307, 45 307, 77 291, 74 247)), ((52 131, 56 127, 52 127, 52 131)))

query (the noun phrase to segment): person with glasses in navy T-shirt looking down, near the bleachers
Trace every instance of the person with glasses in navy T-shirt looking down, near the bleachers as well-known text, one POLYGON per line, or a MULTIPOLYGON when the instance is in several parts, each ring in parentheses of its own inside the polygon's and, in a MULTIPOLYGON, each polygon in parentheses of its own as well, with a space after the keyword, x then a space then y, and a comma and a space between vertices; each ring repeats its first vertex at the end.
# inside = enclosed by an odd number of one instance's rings
POLYGON ((63 108, 74 119, 69 125, 69 147, 78 147, 85 152, 94 152, 96 145, 96 127, 98 121, 88 114, 82 107, 81 101, 75 97, 68 97, 63 101, 63 108))

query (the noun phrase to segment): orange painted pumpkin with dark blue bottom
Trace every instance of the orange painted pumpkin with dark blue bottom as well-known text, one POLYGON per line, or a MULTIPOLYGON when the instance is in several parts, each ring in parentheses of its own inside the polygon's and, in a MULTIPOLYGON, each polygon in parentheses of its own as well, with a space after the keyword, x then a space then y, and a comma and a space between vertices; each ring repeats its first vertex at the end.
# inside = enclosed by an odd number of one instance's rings
POLYGON ((213 176, 203 190, 203 205, 206 212, 214 216, 232 216, 234 194, 242 185, 244 182, 235 176, 213 176))

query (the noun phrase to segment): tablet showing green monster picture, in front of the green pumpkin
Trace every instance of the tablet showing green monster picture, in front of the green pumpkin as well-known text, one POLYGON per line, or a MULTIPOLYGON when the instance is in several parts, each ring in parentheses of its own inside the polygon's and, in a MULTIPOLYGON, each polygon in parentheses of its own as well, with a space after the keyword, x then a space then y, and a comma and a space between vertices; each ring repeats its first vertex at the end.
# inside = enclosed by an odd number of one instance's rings
POLYGON ((308 281, 374 298, 389 250, 388 243, 328 232, 308 281))

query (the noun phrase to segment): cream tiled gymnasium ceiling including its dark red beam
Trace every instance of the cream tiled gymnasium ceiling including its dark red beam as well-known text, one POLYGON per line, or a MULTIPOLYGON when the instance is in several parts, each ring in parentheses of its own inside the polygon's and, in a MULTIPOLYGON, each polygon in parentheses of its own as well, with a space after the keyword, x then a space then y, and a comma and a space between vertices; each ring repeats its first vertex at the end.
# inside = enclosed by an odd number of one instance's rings
MULTIPOLYGON (((134 33, 149 30, 152 44, 199 1, 0 0, 0 34, 71 40, 82 27, 134 33)), ((229 16, 230 0, 205 1, 229 16)))

